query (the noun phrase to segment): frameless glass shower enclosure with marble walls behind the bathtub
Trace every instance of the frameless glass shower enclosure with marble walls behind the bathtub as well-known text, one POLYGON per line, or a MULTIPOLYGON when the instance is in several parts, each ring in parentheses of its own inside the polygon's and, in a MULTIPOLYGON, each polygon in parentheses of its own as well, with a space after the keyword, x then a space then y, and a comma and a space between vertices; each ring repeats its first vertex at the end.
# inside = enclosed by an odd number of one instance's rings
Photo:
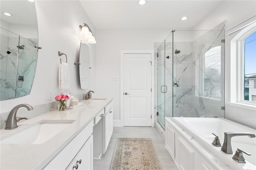
POLYGON ((224 117, 224 24, 213 30, 172 30, 157 54, 157 113, 224 117))

